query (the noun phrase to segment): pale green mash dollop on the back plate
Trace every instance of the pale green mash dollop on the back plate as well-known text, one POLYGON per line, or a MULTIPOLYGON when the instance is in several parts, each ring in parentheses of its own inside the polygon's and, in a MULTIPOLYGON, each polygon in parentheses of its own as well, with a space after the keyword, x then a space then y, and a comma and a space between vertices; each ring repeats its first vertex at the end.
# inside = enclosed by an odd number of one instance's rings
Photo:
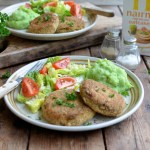
POLYGON ((38 16, 39 14, 32 9, 21 6, 9 16, 7 26, 14 29, 27 29, 30 21, 38 16))

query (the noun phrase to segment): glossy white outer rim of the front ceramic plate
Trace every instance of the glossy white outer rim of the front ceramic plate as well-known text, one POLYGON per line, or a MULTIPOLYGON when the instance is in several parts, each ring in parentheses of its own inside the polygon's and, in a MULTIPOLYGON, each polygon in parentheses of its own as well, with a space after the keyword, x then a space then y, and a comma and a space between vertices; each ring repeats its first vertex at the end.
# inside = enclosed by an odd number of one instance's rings
MULTIPOLYGON (((70 57, 71 59, 76 59, 76 60, 87 60, 87 59, 91 59, 91 60, 94 60, 96 61, 97 59, 99 58, 96 58, 96 57, 90 57, 90 56, 62 56, 62 57, 70 57)), ((41 59, 43 61, 45 61, 47 58, 45 59, 41 59)), ((39 60, 38 60, 39 61, 39 60)), ((27 65, 31 65, 31 64, 34 64, 36 63, 37 61, 34 61, 32 63, 29 63, 27 65)), ((21 67, 20 69, 18 69, 16 72, 14 72, 10 78, 7 80, 7 82, 9 82, 11 80, 11 78, 13 78, 13 76, 15 74, 17 74, 17 72, 19 72, 21 69, 27 67, 27 65, 21 67)), ((118 64, 117 64, 118 65, 118 64)), ((118 65, 120 66, 120 65, 118 65)), ((20 119, 30 123, 30 124, 33 124, 33 125, 36 125, 36 126, 39 126, 39 127, 43 127, 43 128, 46 128, 46 129, 52 129, 52 130, 57 130, 57 131, 71 131, 71 132, 77 132, 77 131, 90 131, 90 130, 96 130, 96 129, 101 129, 101 128, 104 128, 104 127, 108 127, 108 126, 111 126, 111 125, 114 125, 114 124, 117 124, 123 120, 125 120, 126 118, 128 118, 129 116, 131 116, 139 107, 140 105, 142 104, 142 101, 143 101, 143 98, 144 98, 144 88, 143 88, 143 85, 140 81, 140 79, 134 74, 132 73, 130 70, 120 66, 121 68, 125 69, 125 71, 127 72, 127 74, 136 82, 137 86, 138 86, 138 92, 139 92, 139 99, 137 101, 137 103, 134 105, 134 107, 127 113, 123 114, 122 116, 116 118, 116 119, 113 119, 113 120, 110 120, 110 121, 107 121, 107 122, 103 122, 103 123, 100 123, 100 124, 96 124, 96 125, 91 125, 91 126, 59 126, 59 125, 52 125, 52 124, 47 124, 47 123, 44 123, 44 122, 38 122, 38 120, 32 120, 31 118, 28 118, 27 116, 19 113, 15 108, 13 108, 13 106, 9 103, 9 100, 8 100, 8 96, 5 95, 4 96, 4 100, 5 100, 5 103, 7 105, 7 107, 16 115, 18 116, 20 119)), ((6 82, 6 83, 7 83, 6 82)))

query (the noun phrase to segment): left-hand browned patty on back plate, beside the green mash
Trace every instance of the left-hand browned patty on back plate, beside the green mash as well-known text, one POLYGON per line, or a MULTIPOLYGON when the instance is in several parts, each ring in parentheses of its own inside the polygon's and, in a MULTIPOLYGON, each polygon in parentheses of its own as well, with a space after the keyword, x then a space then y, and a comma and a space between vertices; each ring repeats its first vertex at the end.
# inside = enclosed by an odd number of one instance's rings
POLYGON ((45 13, 30 22, 28 32, 37 34, 52 34, 56 32, 59 17, 54 13, 45 13))

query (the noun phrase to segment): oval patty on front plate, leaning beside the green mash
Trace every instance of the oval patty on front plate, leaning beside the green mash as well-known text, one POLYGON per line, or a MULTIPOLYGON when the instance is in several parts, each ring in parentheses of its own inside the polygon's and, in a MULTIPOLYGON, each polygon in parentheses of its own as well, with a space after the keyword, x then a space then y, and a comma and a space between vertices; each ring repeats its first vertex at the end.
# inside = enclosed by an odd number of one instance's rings
POLYGON ((85 102, 95 112, 105 116, 118 116, 125 108, 123 97, 108 86, 88 79, 83 81, 80 94, 85 102))

